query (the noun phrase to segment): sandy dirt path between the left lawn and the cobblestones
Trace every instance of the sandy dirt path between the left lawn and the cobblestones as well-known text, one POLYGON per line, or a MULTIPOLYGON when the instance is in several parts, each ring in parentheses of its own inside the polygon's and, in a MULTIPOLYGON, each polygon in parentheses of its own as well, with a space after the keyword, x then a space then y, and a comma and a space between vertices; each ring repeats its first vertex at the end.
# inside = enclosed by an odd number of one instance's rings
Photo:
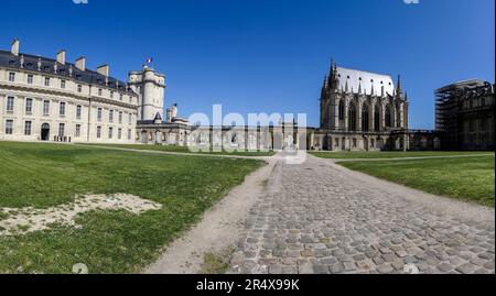
POLYGON ((206 253, 222 254, 235 249, 241 238, 244 219, 250 208, 263 196, 276 160, 250 174, 245 183, 234 188, 220 202, 204 215, 202 222, 176 241, 143 273, 196 274, 202 270, 206 253))

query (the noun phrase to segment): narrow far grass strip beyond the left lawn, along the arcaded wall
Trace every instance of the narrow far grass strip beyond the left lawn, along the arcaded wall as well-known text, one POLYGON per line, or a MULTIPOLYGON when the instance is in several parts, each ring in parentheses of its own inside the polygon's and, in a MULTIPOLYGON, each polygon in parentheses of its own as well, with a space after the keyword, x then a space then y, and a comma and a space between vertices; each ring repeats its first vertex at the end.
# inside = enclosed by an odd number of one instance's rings
MULTIPOLYGON (((169 145, 141 145, 141 144, 91 144, 95 146, 118 147, 118 149, 133 149, 133 150, 150 150, 150 151, 163 151, 163 152, 180 152, 180 153, 194 153, 186 146, 169 146, 169 145)), ((197 152, 200 154, 213 154, 213 155, 235 155, 235 156, 272 156, 274 152, 250 152, 250 151, 234 151, 234 152, 197 152)))

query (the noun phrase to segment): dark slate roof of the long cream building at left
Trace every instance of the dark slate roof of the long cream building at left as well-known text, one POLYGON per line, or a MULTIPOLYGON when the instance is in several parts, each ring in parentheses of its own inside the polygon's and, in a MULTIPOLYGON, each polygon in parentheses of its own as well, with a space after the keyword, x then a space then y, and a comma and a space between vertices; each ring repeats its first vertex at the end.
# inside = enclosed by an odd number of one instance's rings
POLYGON ((0 51, 0 67, 11 69, 24 69, 37 72, 46 75, 56 75, 66 79, 74 79, 76 83, 101 86, 104 88, 115 89, 116 91, 126 92, 136 96, 136 94, 127 87, 127 84, 112 77, 106 77, 94 70, 80 70, 76 65, 71 63, 61 64, 55 59, 41 57, 30 54, 13 55, 11 52, 0 51), (21 59, 23 64, 21 66, 21 59), (41 67, 39 68, 39 63, 41 67), (55 73, 55 64, 57 70, 55 73), (72 68, 72 73, 71 73, 72 68))

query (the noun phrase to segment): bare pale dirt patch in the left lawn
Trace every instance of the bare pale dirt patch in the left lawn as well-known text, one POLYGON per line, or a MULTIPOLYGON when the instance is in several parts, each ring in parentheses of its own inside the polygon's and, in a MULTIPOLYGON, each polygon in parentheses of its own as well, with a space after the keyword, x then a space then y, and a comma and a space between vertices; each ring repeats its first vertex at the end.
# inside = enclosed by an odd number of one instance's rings
POLYGON ((25 234, 46 230, 52 224, 79 228, 80 226, 75 222, 76 216, 91 210, 126 210, 140 215, 161 208, 162 205, 160 204, 126 194, 85 195, 77 197, 72 204, 48 209, 0 208, 0 235, 25 234))

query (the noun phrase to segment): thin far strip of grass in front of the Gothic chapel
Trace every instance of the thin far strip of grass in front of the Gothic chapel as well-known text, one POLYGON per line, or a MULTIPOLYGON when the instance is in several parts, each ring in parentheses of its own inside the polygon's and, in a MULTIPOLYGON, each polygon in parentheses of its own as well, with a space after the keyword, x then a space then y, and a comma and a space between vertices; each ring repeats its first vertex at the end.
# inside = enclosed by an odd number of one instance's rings
POLYGON ((477 155, 493 154, 494 152, 310 152, 313 156, 333 160, 373 160, 373 158, 405 158, 405 157, 428 157, 428 156, 454 156, 454 155, 477 155))

